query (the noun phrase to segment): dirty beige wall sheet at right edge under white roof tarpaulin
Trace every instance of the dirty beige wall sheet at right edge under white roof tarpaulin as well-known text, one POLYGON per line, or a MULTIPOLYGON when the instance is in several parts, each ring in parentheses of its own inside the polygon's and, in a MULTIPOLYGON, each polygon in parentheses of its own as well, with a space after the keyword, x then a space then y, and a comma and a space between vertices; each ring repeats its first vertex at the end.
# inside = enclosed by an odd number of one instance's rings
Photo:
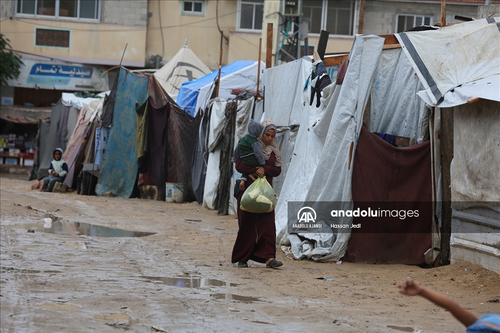
POLYGON ((500 103, 479 100, 453 109, 452 207, 500 212, 500 103))

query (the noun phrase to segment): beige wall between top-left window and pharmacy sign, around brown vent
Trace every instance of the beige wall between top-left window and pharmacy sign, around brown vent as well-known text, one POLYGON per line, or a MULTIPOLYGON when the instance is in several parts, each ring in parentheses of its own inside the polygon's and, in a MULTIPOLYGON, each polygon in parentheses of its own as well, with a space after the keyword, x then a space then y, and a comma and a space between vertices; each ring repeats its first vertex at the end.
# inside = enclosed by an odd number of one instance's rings
POLYGON ((122 64, 136 67, 144 64, 146 30, 143 27, 23 18, 22 21, 7 19, 0 23, 0 29, 14 50, 72 62, 117 65, 128 43, 122 64), (35 46, 35 27, 70 29, 70 47, 35 46))

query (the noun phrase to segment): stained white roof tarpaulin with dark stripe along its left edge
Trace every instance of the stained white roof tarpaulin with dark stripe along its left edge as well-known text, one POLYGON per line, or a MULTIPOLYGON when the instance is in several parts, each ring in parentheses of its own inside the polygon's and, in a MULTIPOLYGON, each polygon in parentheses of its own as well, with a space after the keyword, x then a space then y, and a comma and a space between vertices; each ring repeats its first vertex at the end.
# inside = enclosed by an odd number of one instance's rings
POLYGON ((500 74, 499 21, 490 17, 395 34, 432 104, 460 84, 500 74))

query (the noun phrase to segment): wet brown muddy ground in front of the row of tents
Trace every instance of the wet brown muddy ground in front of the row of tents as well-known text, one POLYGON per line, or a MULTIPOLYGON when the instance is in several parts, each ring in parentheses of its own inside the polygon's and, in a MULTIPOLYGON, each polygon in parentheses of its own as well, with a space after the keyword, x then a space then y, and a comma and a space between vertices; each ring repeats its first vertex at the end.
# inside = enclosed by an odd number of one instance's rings
POLYGON ((477 316, 500 310, 487 302, 500 298, 500 277, 480 266, 319 264, 279 250, 280 269, 238 269, 230 263, 235 216, 195 204, 40 193, 12 177, 0 178, 1 332, 465 331, 448 312, 397 294, 406 277, 477 316), (40 232, 47 214, 155 234, 40 232), (334 280, 314 279, 325 276, 334 280))

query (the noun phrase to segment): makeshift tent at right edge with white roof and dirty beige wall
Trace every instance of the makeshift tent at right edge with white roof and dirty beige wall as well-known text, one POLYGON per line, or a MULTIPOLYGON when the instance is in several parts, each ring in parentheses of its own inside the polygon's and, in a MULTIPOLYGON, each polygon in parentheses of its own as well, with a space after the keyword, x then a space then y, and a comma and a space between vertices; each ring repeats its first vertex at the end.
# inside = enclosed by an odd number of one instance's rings
MULTIPOLYGON (((434 109, 429 124, 432 171, 439 182, 440 117, 452 113, 450 261, 479 264, 496 273, 500 273, 500 45, 489 41, 498 40, 499 22, 500 18, 490 17, 435 33, 396 34, 424 86, 417 95, 434 109)), ((437 192, 439 197, 439 188, 437 192)), ((440 220, 440 213, 436 215, 440 220)))

